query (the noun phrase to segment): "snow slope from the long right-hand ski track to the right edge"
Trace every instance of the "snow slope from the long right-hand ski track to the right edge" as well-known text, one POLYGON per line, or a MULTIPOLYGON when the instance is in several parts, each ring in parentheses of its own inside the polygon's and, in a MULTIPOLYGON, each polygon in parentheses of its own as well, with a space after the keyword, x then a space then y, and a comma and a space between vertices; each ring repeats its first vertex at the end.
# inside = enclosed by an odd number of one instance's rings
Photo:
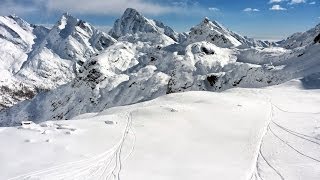
POLYGON ((319 179, 319 77, 293 80, 263 92, 271 99, 272 120, 253 179, 319 179))

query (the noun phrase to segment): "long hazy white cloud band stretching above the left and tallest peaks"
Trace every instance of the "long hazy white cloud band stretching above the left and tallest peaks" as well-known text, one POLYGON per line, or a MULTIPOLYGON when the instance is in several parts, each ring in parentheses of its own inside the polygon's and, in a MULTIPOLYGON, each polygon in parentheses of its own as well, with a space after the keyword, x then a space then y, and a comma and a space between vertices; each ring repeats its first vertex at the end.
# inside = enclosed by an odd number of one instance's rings
MULTIPOLYGON (((207 8, 197 1, 179 0, 163 4, 151 0, 0 0, 0 15, 25 15, 34 12, 51 14, 69 12, 83 15, 121 15, 126 8, 134 8, 146 15, 204 14, 207 8)), ((209 9, 218 11, 218 9, 209 9)))

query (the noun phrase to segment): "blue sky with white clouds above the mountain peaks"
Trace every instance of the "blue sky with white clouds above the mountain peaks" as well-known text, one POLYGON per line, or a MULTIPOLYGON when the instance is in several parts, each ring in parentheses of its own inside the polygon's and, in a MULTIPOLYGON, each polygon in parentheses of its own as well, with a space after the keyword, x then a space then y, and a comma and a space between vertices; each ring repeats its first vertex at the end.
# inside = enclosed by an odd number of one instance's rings
POLYGON ((127 7, 179 32, 209 17, 258 39, 282 39, 320 23, 320 0, 0 0, 0 15, 50 25, 69 12, 107 29, 127 7))

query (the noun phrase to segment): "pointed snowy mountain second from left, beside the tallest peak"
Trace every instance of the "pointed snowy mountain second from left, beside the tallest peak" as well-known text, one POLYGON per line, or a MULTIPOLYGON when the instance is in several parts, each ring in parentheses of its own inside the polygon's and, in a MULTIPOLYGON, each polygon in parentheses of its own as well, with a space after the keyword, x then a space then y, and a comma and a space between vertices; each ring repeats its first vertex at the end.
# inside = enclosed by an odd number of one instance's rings
POLYGON ((34 47, 17 76, 42 89, 55 88, 70 82, 79 66, 115 42, 87 22, 64 14, 34 47))

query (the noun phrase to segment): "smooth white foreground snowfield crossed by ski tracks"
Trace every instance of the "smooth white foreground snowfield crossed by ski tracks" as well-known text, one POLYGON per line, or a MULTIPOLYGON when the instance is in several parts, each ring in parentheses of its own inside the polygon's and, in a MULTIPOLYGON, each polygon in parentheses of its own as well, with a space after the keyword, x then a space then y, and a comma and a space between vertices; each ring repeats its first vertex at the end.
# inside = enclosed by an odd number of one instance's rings
POLYGON ((293 80, 24 122, 0 129, 0 179, 319 179, 319 107, 293 80))

